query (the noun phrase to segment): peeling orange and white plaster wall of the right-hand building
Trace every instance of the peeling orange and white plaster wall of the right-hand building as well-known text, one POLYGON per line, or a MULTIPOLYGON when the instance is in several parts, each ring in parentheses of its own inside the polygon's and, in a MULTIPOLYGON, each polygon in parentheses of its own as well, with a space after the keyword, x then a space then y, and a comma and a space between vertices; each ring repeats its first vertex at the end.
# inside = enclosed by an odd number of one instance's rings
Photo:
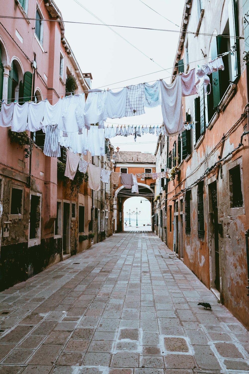
MULTIPOLYGON (((210 61, 211 40, 217 34, 221 34, 227 24, 228 2, 203 0, 204 17, 200 27, 200 33, 210 33, 213 36, 201 35, 197 37, 186 34, 184 46, 180 54, 180 59, 186 63, 185 47, 188 42, 189 69, 210 61), (207 55, 203 57, 203 53, 207 55), (195 61, 195 62, 194 62, 195 61)), ((243 35, 243 10, 242 0, 237 0, 238 12, 238 34, 243 35)), ((191 15, 187 30, 196 30, 196 1, 192 1, 191 15)), ((247 99, 247 81, 244 56, 244 40, 239 41, 240 50, 240 71, 241 75, 237 80, 236 92, 227 102, 224 110, 219 111, 219 117, 213 127, 206 123, 206 131, 202 142, 195 146, 195 128, 192 129, 191 155, 187 160, 181 163, 181 173, 179 181, 175 179, 168 184, 168 209, 167 209, 167 237, 168 246, 173 250, 174 233, 169 232, 169 205, 172 205, 172 219, 174 200, 183 198, 183 248, 184 263, 192 270, 194 274, 208 287, 215 287, 215 245, 214 232, 212 227, 212 200, 209 193, 209 183, 217 180, 217 207, 218 207, 218 249, 220 255, 220 300, 247 328, 249 328, 249 297, 247 285, 247 263, 246 263, 246 244, 245 230, 249 229, 249 141, 248 135, 243 137, 243 146, 235 151, 225 162, 218 172, 218 168, 213 169, 203 178, 204 172, 217 162, 221 152, 222 136, 232 129, 230 135, 224 142, 222 157, 234 150, 240 143, 240 137, 243 131, 248 130, 248 119, 245 117, 233 128, 234 124, 240 119, 241 114, 248 102, 247 99), (219 144, 218 144, 219 143, 219 144), (218 144, 218 145, 217 145, 218 144), (216 147, 217 145, 217 147, 216 147), (230 203, 230 184, 229 169, 234 165, 240 165, 241 183, 243 194, 243 206, 231 208, 230 203), (222 171, 222 173, 221 173, 222 171), (218 178, 217 178, 218 174, 218 178), (204 179, 203 190, 203 210, 205 225, 205 240, 202 242, 197 236, 197 185, 198 180, 204 179), (194 184, 194 185, 192 185, 194 184), (181 190, 191 188, 190 213, 191 213, 191 234, 185 233, 185 193, 181 190), (223 234, 222 234, 222 230, 223 234)), ((194 102, 195 96, 189 96, 183 99, 184 111, 191 114, 194 120, 194 102), (186 109, 185 109, 186 108, 186 109)), ((185 116, 184 116, 185 119, 185 116)), ((172 148, 176 137, 170 138, 169 146, 172 148)), ((169 149, 169 151, 171 150, 169 149)), ((180 202, 179 202, 180 203, 180 202)))

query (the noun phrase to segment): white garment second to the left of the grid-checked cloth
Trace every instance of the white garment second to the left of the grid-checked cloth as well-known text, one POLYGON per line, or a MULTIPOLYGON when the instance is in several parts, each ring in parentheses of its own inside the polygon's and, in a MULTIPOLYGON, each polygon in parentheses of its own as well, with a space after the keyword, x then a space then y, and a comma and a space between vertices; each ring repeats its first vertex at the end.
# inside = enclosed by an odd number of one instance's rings
POLYGON ((106 95, 103 90, 88 90, 83 114, 87 125, 106 120, 106 95))

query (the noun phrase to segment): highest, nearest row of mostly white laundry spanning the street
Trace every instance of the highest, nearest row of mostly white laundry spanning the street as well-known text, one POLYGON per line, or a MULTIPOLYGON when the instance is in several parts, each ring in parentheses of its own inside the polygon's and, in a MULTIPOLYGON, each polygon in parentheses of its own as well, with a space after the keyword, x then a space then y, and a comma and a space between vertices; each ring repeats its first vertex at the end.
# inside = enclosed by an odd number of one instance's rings
MULTIPOLYGON (((0 126, 11 126, 12 131, 38 131, 44 126, 58 125, 63 136, 78 132, 82 135, 83 128, 90 128, 90 124, 98 123, 98 128, 105 128, 107 118, 122 118, 144 114, 144 107, 152 108, 161 105, 164 122, 164 134, 176 135, 183 129, 182 96, 195 95, 196 86, 200 78, 207 86, 207 74, 219 69, 224 70, 222 58, 219 57, 199 69, 192 69, 188 73, 177 74, 173 83, 157 80, 149 83, 139 83, 122 88, 118 92, 112 90, 88 90, 85 96, 71 95, 61 98, 55 105, 45 101, 2 102, 0 111, 0 126)), ((138 135, 139 131, 138 131, 138 135)))

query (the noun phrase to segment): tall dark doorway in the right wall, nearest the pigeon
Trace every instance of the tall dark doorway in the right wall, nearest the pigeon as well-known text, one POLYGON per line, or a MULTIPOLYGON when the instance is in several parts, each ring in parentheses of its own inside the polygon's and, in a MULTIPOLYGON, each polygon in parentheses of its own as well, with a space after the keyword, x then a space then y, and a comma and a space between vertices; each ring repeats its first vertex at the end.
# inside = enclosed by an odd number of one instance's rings
POLYGON ((215 250, 215 288, 220 292, 220 253, 219 253, 219 232, 218 232, 218 206, 217 206, 217 183, 211 183, 209 190, 212 199, 212 216, 214 232, 214 250, 215 250))

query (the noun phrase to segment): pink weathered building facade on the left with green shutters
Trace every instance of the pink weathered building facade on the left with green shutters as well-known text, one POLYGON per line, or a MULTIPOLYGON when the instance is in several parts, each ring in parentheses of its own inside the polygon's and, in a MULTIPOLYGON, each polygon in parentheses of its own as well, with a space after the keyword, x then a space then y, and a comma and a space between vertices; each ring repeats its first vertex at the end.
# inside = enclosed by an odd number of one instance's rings
MULTIPOLYGON (((0 100, 55 104, 70 74, 75 93, 90 88, 91 74, 81 72, 53 1, 1 1, 1 15, 11 18, 0 19, 0 100)), ((42 131, 27 134, 35 143, 28 155, 0 127, 0 289, 91 246, 90 239, 79 241, 92 219, 91 190, 83 182, 72 191, 57 180, 65 149, 59 160, 47 157, 42 131)))

